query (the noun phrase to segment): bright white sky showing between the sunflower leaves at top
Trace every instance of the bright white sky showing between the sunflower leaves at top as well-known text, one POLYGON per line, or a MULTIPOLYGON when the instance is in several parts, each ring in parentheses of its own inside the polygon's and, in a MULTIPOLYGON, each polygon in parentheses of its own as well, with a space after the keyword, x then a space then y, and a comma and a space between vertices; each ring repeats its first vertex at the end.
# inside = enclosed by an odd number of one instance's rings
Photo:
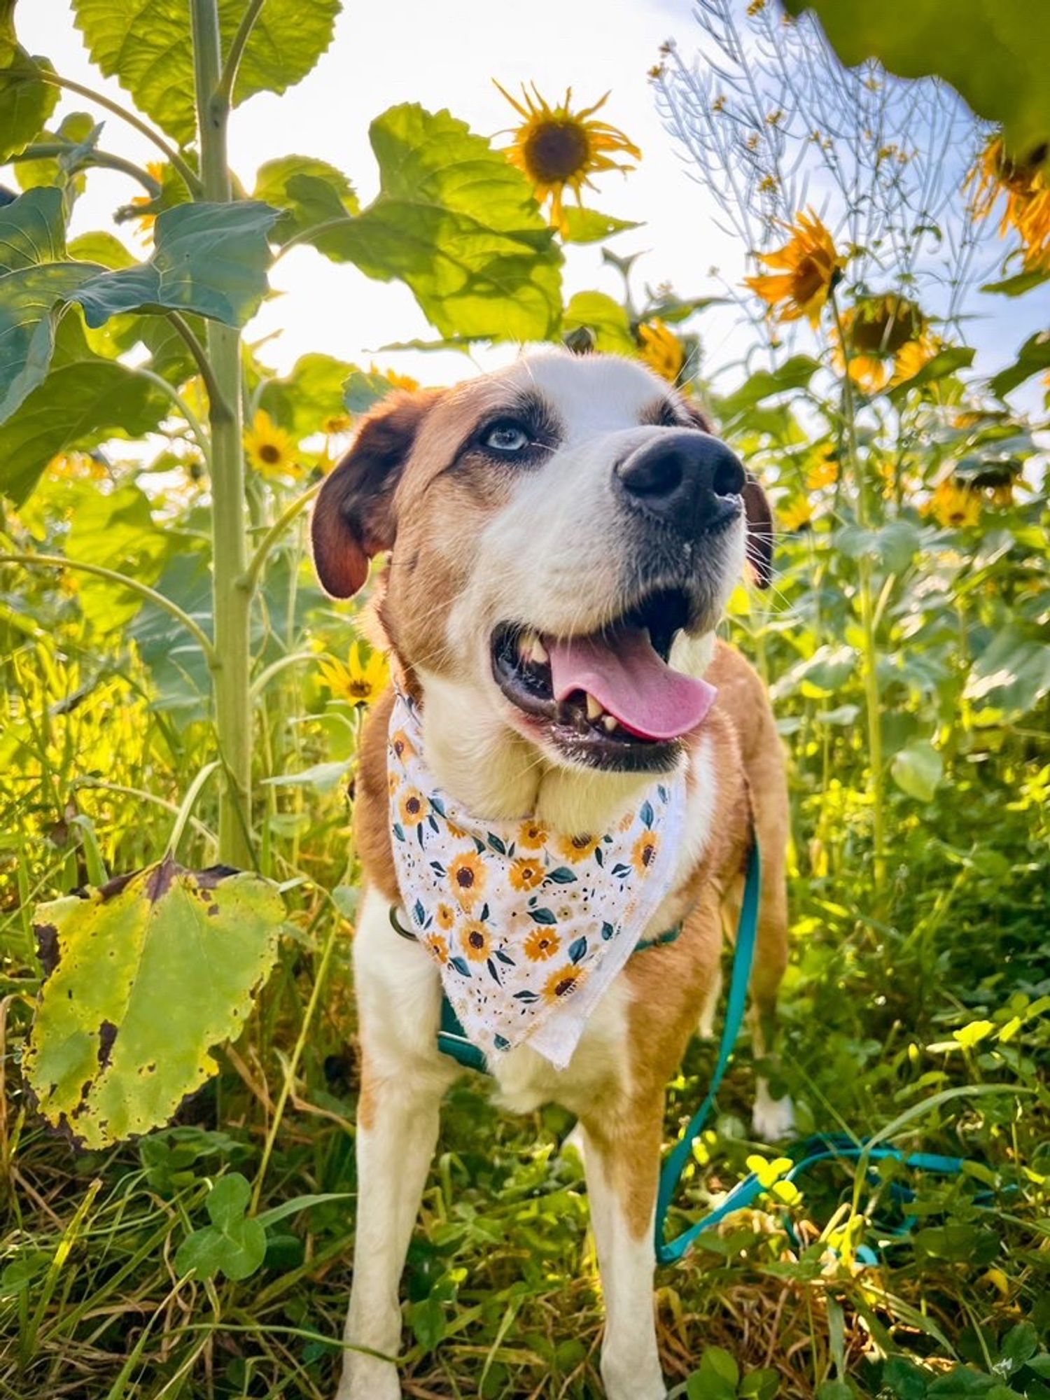
MULTIPOLYGON (((127 101, 116 83, 102 80, 91 67, 67 0, 22 0, 17 27, 25 48, 48 55, 59 73, 127 101)), ((640 280, 671 281, 680 295, 711 294, 718 288, 707 276, 708 267, 718 265, 736 279, 743 273, 745 251, 713 225, 704 190, 689 179, 657 115, 645 74, 669 36, 679 41, 683 53, 694 50, 699 31, 689 0, 349 0, 335 42, 298 87, 283 98, 260 94, 234 112, 231 161, 251 189, 265 160, 318 155, 343 169, 367 203, 378 186, 368 123, 392 104, 447 106, 472 129, 493 134, 515 120, 493 77, 508 90, 535 80, 550 101, 567 85, 581 104, 612 90, 602 116, 641 147, 644 160, 629 176, 599 176, 599 189, 588 192, 587 202, 603 213, 645 220, 644 228, 620 234, 610 244, 622 255, 647 252, 636 265, 640 280)), ((87 106, 84 99, 63 94, 56 120, 87 106)), ((104 148, 140 162, 157 154, 118 118, 98 115, 106 122, 104 148)), ((112 227, 112 210, 136 193, 139 186, 122 175, 92 172, 74 211, 73 232, 112 227)), ((133 239, 127 227, 120 237, 133 239)), ((132 246, 143 255, 141 246, 132 246)), ((601 266, 594 248, 568 251, 564 279, 567 294, 598 287, 619 295, 619 274, 601 266)), ((272 284, 283 295, 262 308, 248 335, 258 339, 279 332, 265 357, 280 372, 307 350, 356 363, 377 358, 428 382, 472 372, 462 356, 449 351, 377 354, 386 342, 434 335, 399 283, 371 281, 353 266, 329 263, 312 249, 298 248, 280 260, 272 284)), ((1023 302, 981 300, 994 319, 977 323, 972 335, 983 351, 979 364, 991 371, 1030 329, 1046 325, 1050 294, 1023 302)), ((746 349, 725 315, 700 315, 693 326, 703 337, 708 372, 746 349)), ((512 353, 503 347, 479 351, 476 358, 491 363, 512 353)))

